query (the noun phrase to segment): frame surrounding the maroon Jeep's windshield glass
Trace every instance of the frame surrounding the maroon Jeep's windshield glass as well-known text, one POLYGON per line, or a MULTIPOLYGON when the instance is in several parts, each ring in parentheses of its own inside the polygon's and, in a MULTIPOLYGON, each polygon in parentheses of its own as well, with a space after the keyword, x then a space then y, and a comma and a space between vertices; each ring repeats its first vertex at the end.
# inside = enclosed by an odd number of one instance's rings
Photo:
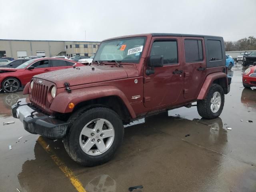
MULTIPOLYGON (((129 64, 139 64, 140 63, 140 60, 141 60, 141 57, 142 57, 142 54, 144 52, 144 49, 145 49, 145 44, 147 42, 147 36, 133 36, 133 37, 123 37, 123 38, 116 38, 116 39, 110 39, 110 40, 105 40, 105 41, 102 41, 100 43, 100 45, 98 46, 98 50, 96 51, 96 54, 94 54, 94 58, 92 60, 92 62, 96 62, 95 58, 97 56, 97 54, 99 54, 99 50, 100 50, 100 47, 102 46, 103 43, 105 42, 113 42, 113 41, 120 41, 120 40, 127 40, 127 39, 134 39, 134 38, 144 38, 144 43, 143 43, 143 48, 142 48, 142 52, 140 54, 140 57, 138 58, 138 60, 116 60, 118 62, 122 62, 122 64, 125 64, 125 63, 129 63, 129 64)), ((98 60, 99 62, 109 62, 109 60, 98 60)))

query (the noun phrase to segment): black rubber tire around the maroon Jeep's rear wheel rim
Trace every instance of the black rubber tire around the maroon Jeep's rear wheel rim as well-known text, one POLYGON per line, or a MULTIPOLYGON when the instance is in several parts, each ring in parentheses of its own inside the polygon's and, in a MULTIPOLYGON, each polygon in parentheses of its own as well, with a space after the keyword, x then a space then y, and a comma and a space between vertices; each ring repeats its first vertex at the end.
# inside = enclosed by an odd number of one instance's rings
POLYGON ((203 100, 197 101, 197 111, 201 117, 206 118, 206 119, 213 119, 213 118, 220 116, 220 114, 223 110, 223 106, 224 106, 224 91, 223 91, 223 88, 219 84, 212 84, 212 86, 210 87, 210 89, 206 95, 206 98, 203 100), (220 93, 221 104, 220 104, 219 110, 214 113, 214 112, 212 112, 210 105, 211 105, 211 98, 215 92, 220 93))

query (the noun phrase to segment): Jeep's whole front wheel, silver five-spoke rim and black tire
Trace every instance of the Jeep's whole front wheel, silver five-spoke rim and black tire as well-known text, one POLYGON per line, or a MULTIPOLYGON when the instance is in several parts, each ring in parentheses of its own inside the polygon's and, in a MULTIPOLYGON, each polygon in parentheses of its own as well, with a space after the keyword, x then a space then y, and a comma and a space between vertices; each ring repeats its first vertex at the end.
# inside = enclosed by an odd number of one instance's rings
POLYGON ((118 114, 98 107, 74 114, 63 141, 74 161, 84 166, 96 166, 114 156, 123 136, 124 126, 118 114))

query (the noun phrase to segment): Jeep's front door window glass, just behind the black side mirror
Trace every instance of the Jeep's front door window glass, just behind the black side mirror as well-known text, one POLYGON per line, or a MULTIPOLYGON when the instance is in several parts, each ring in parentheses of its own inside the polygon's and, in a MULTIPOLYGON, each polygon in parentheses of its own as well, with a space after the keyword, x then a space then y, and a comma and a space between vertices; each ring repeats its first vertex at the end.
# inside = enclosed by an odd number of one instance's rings
POLYGON ((164 56, 164 65, 178 63, 178 46, 176 40, 155 40, 152 44, 150 56, 164 56))

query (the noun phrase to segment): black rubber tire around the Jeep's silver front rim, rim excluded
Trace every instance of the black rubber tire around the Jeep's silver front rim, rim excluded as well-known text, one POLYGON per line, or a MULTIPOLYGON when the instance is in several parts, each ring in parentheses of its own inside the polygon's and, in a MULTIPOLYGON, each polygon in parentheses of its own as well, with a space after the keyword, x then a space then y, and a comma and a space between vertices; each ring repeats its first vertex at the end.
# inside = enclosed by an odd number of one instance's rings
POLYGON ((123 137, 124 126, 118 114, 108 108, 96 107, 89 110, 81 109, 70 117, 68 134, 63 142, 67 153, 74 161, 84 166, 96 166, 108 162, 114 156, 123 137), (103 154, 93 156, 80 147, 80 133, 88 122, 101 118, 108 120, 114 127, 114 141, 103 154))

